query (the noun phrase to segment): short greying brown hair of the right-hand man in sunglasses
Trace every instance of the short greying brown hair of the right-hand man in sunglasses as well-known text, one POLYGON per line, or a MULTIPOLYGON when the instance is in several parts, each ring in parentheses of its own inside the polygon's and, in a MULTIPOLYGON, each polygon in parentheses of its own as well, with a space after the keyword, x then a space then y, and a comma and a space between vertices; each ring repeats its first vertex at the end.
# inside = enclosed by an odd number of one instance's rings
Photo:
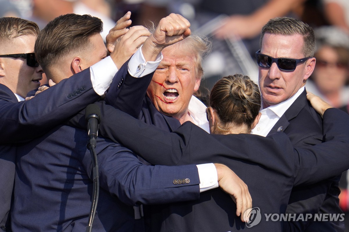
POLYGON ((306 23, 288 17, 272 18, 269 22, 262 27, 261 37, 259 41, 260 47, 262 47, 262 40, 265 33, 277 34, 277 35, 294 35, 300 34, 303 36, 303 54, 304 57, 313 57, 315 51, 315 35, 314 30, 306 23))

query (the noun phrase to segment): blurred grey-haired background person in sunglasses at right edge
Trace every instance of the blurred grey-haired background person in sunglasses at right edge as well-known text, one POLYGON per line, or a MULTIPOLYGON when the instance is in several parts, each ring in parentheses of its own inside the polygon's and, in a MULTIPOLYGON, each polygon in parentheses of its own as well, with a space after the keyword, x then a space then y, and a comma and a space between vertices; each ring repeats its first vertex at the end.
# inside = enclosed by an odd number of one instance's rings
POLYGON ((315 32, 316 66, 306 89, 340 108, 349 100, 349 37, 333 26, 321 27, 315 32))

